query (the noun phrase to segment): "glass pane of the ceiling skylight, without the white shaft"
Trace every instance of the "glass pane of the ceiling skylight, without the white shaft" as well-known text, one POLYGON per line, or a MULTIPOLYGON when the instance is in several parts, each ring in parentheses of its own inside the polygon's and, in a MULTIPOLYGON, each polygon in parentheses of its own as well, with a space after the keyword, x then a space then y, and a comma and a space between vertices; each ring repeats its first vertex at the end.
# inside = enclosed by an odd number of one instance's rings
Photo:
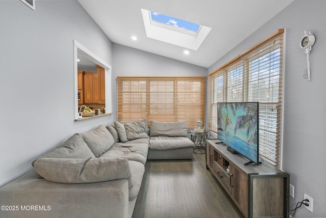
POLYGON ((197 35, 201 25, 176 17, 160 14, 154 11, 150 12, 151 24, 160 25, 165 28, 170 28, 175 31, 197 35))

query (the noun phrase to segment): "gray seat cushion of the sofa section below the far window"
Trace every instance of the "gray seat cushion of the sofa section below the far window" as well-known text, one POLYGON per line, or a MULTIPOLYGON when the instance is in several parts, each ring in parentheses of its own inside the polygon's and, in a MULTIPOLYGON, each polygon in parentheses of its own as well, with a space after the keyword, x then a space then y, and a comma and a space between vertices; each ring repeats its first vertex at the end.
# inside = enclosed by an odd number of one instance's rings
POLYGON ((194 143, 186 137, 151 137, 149 149, 151 150, 172 150, 180 148, 193 148, 194 143))

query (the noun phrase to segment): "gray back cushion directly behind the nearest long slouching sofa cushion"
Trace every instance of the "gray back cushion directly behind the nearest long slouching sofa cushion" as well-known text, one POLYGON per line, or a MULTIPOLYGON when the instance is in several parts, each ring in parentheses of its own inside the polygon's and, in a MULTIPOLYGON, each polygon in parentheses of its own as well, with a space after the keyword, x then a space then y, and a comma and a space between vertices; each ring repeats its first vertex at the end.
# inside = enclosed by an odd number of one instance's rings
MULTIPOLYGON (((84 142, 80 133, 75 133, 68 140, 66 140, 60 147, 40 156, 56 157, 56 158, 88 158, 95 157, 91 149, 84 142)), ((34 166, 34 160, 32 166, 34 166)))

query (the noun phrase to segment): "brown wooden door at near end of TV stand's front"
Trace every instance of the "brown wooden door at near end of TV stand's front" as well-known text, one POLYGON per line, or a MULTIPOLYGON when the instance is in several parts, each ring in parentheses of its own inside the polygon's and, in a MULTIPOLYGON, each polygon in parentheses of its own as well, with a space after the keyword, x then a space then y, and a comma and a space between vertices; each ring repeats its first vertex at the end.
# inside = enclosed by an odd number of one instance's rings
POLYGON ((248 214, 248 178, 234 165, 230 165, 231 196, 243 214, 248 214))

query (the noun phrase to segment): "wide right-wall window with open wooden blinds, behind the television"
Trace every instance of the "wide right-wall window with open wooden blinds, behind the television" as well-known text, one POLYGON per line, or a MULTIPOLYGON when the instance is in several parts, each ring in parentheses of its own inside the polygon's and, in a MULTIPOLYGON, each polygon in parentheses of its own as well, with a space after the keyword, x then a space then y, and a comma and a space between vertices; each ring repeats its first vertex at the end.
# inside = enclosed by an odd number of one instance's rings
POLYGON ((208 76, 208 129, 218 132, 217 102, 259 101, 259 155, 280 165, 283 33, 273 36, 208 76))

